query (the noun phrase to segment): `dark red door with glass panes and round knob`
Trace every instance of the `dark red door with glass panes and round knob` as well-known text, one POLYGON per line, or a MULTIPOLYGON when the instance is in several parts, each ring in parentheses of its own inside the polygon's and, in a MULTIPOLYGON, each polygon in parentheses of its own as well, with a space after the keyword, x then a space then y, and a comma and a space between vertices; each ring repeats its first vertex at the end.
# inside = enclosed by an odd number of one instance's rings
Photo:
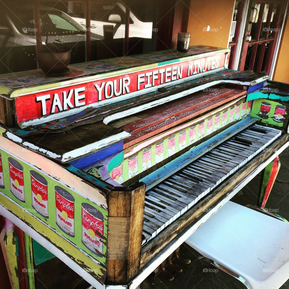
POLYGON ((253 1, 246 24, 240 70, 270 73, 284 1, 253 1))

